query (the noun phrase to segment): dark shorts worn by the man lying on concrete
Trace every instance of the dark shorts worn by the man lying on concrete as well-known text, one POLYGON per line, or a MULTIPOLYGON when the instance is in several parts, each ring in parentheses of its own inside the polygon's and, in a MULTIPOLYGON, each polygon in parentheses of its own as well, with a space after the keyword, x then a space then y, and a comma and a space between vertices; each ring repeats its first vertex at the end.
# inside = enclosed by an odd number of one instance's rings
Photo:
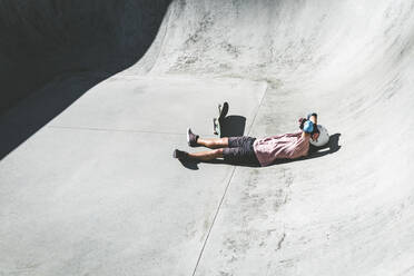
POLYGON ((253 149, 255 140, 248 136, 228 137, 228 148, 223 150, 224 159, 233 164, 260 166, 253 149))

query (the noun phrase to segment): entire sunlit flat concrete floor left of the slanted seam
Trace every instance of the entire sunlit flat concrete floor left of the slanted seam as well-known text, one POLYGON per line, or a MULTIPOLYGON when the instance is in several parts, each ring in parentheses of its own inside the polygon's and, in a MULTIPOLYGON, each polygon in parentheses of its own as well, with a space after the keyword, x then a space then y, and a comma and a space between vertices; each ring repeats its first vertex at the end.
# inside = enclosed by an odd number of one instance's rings
POLYGON ((90 90, 1 162, 2 273, 191 274, 234 168, 188 169, 172 149, 188 126, 213 137, 224 100, 252 127, 266 88, 115 77, 90 90))

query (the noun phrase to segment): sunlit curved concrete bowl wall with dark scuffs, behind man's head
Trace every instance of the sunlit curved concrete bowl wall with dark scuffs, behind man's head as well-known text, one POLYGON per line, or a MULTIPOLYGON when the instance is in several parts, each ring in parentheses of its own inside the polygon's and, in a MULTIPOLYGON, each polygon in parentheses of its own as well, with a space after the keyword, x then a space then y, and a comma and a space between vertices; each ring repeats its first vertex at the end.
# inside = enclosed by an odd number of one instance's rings
POLYGON ((414 1, 176 1, 166 24, 158 58, 127 71, 267 81, 275 101, 255 135, 288 130, 274 119, 286 118, 278 98, 342 134, 337 154, 300 169, 313 177, 296 179, 278 213, 292 238, 283 257, 241 246, 266 221, 243 225, 245 203, 233 200, 221 220, 231 226, 216 229, 197 275, 414 273, 414 1))

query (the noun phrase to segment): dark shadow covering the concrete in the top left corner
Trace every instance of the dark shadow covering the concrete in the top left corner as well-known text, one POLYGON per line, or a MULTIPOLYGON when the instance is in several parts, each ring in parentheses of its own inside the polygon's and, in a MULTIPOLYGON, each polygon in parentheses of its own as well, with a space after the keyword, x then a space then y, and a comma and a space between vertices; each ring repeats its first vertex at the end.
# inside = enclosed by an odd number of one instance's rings
POLYGON ((169 2, 1 0, 0 159, 141 58, 169 2), (24 107, 10 110, 18 102, 24 107))

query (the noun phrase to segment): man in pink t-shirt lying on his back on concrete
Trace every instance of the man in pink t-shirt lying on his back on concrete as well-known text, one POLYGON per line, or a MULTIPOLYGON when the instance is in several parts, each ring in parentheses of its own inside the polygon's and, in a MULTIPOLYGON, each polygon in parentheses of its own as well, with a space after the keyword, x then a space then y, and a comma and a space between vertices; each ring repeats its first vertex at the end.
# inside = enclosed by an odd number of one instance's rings
POLYGON ((190 147, 204 146, 214 150, 201 152, 186 152, 174 150, 174 158, 180 160, 210 161, 224 158, 226 161, 252 166, 269 166, 276 159, 296 159, 307 156, 309 139, 316 140, 319 136, 317 129, 317 115, 310 114, 307 119, 299 119, 300 131, 272 136, 263 139, 254 137, 223 137, 201 138, 187 130, 187 141, 190 147))

